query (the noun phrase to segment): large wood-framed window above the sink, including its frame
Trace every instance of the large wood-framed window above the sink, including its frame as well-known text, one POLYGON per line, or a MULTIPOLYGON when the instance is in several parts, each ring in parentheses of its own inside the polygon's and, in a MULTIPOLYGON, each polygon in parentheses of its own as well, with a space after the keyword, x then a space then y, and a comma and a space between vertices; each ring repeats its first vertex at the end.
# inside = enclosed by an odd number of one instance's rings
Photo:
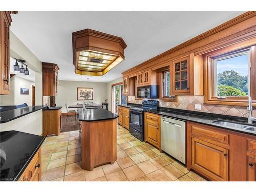
POLYGON ((255 47, 232 46, 204 55, 205 103, 247 105, 249 96, 256 99, 255 47))

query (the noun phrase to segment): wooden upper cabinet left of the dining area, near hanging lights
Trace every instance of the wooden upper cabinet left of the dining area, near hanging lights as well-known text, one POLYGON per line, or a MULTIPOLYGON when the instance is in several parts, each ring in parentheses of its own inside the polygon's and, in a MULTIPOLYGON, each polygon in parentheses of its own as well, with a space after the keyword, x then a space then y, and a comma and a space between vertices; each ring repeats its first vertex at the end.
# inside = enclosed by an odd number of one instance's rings
POLYGON ((42 62, 42 96, 57 95, 58 70, 58 65, 42 62))

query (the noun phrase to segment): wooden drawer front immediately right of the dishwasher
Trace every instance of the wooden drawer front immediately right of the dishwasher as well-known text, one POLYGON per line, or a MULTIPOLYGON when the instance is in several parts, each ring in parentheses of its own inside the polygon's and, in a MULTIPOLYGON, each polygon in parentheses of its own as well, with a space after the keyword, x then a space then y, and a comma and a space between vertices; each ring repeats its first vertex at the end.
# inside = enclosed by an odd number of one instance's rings
POLYGON ((193 136, 198 137, 201 140, 229 145, 229 134, 211 130, 210 127, 206 125, 191 123, 191 132, 193 136))

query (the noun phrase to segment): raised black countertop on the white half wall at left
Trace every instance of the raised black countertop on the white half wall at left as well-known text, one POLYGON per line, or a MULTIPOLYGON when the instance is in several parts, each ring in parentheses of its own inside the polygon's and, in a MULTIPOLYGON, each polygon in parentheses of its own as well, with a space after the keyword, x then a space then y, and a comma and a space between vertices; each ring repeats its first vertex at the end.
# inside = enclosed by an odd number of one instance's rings
POLYGON ((22 117, 24 115, 28 115, 30 113, 41 110, 43 108, 44 108, 44 106, 42 106, 42 105, 25 106, 24 108, 18 108, 18 109, 14 109, 14 110, 8 110, 8 111, 0 112, 0 117, 2 118, 0 120, 0 123, 6 123, 8 121, 17 119, 17 118, 22 117))

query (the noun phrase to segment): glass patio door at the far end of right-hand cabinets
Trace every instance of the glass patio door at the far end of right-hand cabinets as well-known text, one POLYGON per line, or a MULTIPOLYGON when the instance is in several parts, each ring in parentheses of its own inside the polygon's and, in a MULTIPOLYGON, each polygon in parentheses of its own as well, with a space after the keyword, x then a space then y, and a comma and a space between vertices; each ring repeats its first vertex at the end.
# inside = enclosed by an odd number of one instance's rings
POLYGON ((112 84, 111 92, 111 102, 112 102, 112 113, 117 114, 118 104, 127 104, 127 97, 123 95, 123 84, 122 82, 112 84))

